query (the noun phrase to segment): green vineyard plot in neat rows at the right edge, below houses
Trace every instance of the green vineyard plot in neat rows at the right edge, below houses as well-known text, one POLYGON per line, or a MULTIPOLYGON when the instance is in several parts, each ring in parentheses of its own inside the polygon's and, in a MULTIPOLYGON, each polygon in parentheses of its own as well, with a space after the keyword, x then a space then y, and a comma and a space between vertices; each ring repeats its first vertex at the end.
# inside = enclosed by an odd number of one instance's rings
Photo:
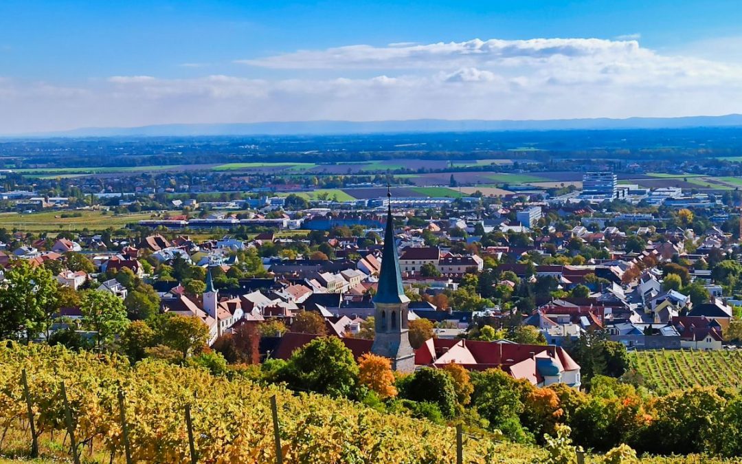
POLYGON ((637 351, 634 363, 646 386, 658 393, 694 385, 742 385, 742 351, 637 351))

